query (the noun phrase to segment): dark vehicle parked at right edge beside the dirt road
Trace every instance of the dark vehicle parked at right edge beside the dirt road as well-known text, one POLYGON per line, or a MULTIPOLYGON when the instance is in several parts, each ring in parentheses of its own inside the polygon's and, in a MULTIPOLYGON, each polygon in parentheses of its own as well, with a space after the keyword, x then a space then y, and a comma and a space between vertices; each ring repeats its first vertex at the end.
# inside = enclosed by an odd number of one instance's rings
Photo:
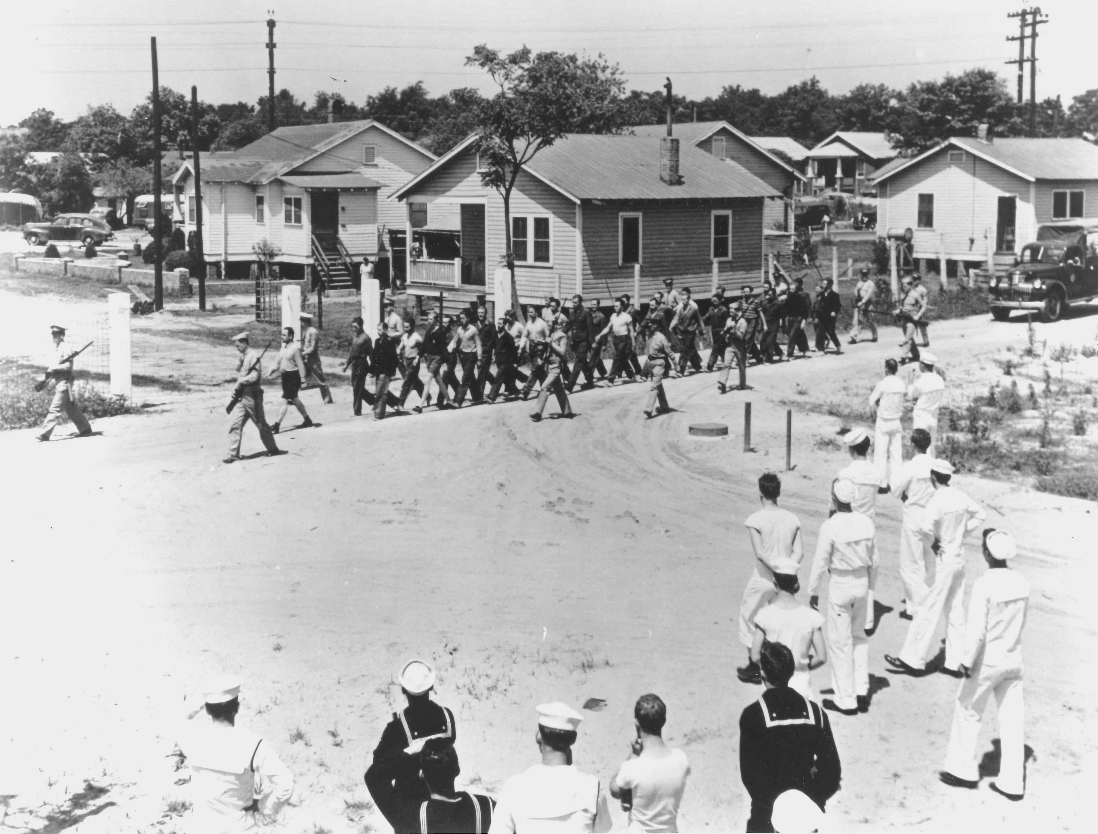
POLYGON ((1013 268, 989 286, 991 316, 1006 322, 1018 309, 1055 322, 1072 303, 1098 297, 1098 218, 1046 223, 1026 244, 1013 268))

